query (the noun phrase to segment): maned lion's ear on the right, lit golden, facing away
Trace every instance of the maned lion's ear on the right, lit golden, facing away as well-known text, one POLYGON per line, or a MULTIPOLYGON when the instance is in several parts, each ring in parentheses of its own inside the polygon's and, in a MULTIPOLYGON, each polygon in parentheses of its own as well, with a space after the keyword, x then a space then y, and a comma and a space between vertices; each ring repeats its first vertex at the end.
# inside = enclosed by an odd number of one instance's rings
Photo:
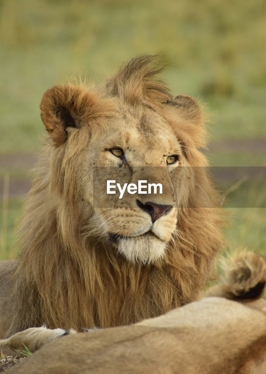
POLYGON ((205 126, 199 104, 188 95, 178 95, 166 102, 167 114, 178 140, 190 145, 205 145, 205 126))

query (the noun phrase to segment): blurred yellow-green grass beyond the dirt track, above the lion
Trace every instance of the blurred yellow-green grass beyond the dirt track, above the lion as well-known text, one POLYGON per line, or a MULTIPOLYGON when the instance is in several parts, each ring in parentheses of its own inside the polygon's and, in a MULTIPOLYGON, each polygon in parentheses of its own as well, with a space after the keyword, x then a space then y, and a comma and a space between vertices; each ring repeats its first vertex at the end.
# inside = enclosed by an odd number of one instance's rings
POLYGON ((34 151, 39 103, 80 72, 99 80, 131 55, 163 50, 174 93, 209 103, 214 139, 265 137, 265 2, 2 0, 0 152, 34 151), (10 134, 16 136, 10 137, 10 134))

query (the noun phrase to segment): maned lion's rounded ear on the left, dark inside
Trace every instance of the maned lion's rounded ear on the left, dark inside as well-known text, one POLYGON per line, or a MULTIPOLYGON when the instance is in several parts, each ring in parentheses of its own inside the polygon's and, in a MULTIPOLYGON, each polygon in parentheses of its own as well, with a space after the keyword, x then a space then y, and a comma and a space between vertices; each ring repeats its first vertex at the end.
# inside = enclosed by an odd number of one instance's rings
POLYGON ((49 88, 43 95, 41 116, 46 130, 56 145, 64 143, 69 128, 81 128, 97 117, 103 102, 94 92, 72 85, 49 88))

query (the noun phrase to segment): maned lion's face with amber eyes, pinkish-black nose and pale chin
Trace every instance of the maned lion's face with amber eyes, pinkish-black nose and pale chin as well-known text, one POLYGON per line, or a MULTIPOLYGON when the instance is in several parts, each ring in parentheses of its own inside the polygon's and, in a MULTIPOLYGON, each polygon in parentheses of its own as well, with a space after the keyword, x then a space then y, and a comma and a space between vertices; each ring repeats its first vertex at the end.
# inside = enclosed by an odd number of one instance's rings
POLYGON ((89 145, 83 165, 84 200, 94 209, 87 232, 129 261, 154 262, 163 257, 177 223, 186 162, 181 145, 166 120, 148 108, 124 105, 108 127, 89 145), (125 191, 119 199, 117 188, 107 194, 107 180, 121 186, 138 185, 138 180, 161 183, 163 193, 125 191))

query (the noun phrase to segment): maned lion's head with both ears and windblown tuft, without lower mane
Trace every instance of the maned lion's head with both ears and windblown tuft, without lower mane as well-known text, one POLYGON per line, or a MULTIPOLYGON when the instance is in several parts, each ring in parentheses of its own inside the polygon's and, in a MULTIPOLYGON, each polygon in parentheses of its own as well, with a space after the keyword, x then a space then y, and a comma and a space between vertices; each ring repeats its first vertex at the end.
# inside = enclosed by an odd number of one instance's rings
POLYGON ((190 96, 172 98, 154 83, 151 62, 152 56, 131 60, 96 90, 55 86, 41 104, 54 152, 63 153, 61 196, 75 195, 86 223, 83 234, 143 263, 163 258, 176 233, 178 208, 195 184, 186 166, 205 166, 202 159, 195 165, 186 152, 186 142, 194 152, 203 142, 198 104, 190 96), (108 179, 161 183, 163 193, 127 193, 119 200, 107 195, 108 179))

